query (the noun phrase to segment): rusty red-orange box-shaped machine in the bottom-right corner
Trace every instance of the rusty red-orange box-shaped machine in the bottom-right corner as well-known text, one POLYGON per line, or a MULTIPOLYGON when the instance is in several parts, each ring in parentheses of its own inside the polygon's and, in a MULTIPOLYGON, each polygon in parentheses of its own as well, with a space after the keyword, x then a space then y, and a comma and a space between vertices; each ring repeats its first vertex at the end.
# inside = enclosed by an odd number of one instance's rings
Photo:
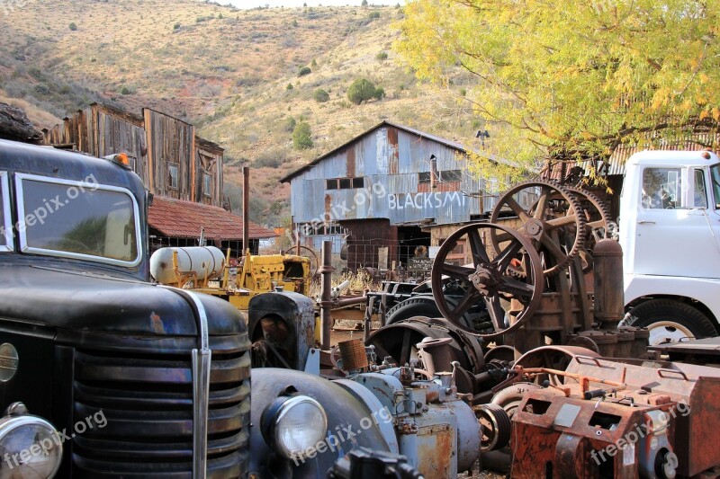
POLYGON ((529 391, 514 415, 513 477, 716 477, 720 369, 578 356, 553 373, 563 387, 529 391))

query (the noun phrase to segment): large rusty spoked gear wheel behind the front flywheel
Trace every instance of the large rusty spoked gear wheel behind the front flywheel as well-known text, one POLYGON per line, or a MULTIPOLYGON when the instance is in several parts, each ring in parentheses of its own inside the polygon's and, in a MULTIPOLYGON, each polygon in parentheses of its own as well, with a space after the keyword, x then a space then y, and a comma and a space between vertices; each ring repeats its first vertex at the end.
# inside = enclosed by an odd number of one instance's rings
MULTIPOLYGON (((586 220, 578 213, 583 211, 581 201, 567 188, 537 180, 520 183, 498 199, 492 209, 491 223, 498 222, 500 211, 505 207, 518 216, 518 233, 531 240, 536 251, 543 254, 545 274, 563 271, 581 252, 585 244, 586 220), (527 209, 513 198, 524 190, 534 189, 540 190, 538 200, 527 209)), ((509 235, 491 231, 491 244, 495 251, 500 251, 500 244, 509 239, 509 235)))

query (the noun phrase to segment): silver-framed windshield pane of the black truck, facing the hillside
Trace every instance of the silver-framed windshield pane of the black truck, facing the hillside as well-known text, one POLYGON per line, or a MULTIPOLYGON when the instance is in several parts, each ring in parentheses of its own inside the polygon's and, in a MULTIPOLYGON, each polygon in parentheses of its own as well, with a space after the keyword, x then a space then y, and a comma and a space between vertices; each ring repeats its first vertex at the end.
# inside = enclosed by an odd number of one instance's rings
POLYGON ((23 252, 134 266, 140 262, 138 205, 130 191, 17 173, 23 252))

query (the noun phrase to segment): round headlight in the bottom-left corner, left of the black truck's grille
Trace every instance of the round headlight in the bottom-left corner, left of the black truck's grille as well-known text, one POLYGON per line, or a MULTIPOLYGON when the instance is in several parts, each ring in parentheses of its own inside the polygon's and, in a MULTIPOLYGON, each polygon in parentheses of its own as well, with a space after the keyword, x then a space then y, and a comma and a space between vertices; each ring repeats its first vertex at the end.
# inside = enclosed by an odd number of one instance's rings
POLYGON ((14 403, 0 419, 0 479, 44 479, 58 472, 62 443, 58 431, 44 419, 32 416, 22 403, 14 403))

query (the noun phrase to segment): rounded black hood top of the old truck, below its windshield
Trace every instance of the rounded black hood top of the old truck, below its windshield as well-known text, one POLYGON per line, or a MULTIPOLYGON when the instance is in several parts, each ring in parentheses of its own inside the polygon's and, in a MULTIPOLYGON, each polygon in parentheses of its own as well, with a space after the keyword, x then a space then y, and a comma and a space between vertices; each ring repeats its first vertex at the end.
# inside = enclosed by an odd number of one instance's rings
MULTIPOLYGON (((211 335, 245 330, 227 301, 197 295, 211 335)), ((195 336, 192 306, 175 290, 52 266, 0 266, 0 316, 49 327, 97 333, 195 336)))

